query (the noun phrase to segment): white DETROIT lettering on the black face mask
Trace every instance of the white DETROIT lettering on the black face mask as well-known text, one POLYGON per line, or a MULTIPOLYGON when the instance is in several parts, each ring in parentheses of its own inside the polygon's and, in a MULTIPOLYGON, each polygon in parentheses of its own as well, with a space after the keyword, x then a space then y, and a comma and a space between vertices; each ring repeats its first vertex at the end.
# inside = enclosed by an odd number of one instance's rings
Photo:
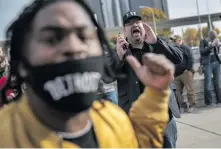
POLYGON ((98 72, 67 74, 46 82, 44 89, 58 101, 74 93, 96 92, 100 79, 101 74, 98 72))

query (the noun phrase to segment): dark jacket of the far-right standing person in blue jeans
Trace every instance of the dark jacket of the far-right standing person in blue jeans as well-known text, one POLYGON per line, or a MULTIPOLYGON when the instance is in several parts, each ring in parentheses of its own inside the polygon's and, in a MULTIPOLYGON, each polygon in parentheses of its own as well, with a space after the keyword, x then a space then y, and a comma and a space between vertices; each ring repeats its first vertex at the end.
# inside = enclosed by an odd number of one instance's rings
MULTIPOLYGON (((214 49, 215 49, 215 47, 211 46, 206 39, 203 39, 200 41, 200 63, 201 63, 201 65, 207 65, 211 62, 210 52, 213 51, 214 49)), ((218 50, 215 51, 215 57, 216 57, 216 60, 219 63, 221 63, 221 60, 218 55, 219 50, 220 50, 220 48, 218 47, 218 50)))

